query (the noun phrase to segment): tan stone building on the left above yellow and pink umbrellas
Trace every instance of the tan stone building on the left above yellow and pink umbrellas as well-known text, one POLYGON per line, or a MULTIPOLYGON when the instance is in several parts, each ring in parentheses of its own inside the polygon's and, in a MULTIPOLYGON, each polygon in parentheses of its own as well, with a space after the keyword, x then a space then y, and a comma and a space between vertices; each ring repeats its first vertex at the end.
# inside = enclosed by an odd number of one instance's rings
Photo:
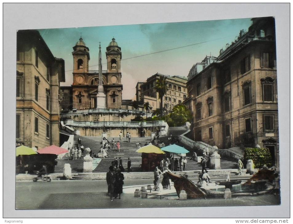
POLYGON ((59 146, 59 82, 64 60, 55 58, 36 30, 17 32, 16 142, 59 146))

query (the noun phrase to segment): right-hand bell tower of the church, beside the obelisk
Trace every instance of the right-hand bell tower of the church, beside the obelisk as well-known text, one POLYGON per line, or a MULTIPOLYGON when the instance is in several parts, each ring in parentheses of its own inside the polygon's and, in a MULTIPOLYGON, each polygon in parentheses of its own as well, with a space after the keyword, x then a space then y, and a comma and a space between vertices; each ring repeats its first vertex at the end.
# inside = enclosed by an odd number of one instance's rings
POLYGON ((106 48, 107 58, 107 85, 106 101, 108 108, 121 108, 122 104, 122 83, 121 83, 121 47, 118 46, 115 38, 106 48))

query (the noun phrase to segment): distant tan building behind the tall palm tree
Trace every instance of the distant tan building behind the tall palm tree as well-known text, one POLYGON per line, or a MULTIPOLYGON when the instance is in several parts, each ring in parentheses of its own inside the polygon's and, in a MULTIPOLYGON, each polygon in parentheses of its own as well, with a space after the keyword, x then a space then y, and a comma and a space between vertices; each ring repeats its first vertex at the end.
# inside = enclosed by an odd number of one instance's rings
MULTIPOLYGON (((145 83, 141 84, 141 101, 149 102, 153 108, 152 110, 160 108, 160 97, 155 89, 156 80, 158 80, 160 76, 164 76, 168 83, 168 91, 163 97, 163 106, 166 112, 170 113, 175 105, 182 103, 184 99, 187 98, 187 78, 178 75, 169 76, 156 73, 149 77, 145 83)), ((137 83, 137 86, 138 85, 139 83, 137 83)))

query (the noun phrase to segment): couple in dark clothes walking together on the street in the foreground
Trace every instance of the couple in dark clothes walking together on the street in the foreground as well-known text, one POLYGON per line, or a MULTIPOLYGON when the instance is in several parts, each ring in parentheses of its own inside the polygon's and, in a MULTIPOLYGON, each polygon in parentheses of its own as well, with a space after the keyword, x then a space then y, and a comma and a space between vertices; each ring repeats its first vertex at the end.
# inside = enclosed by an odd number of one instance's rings
POLYGON ((108 195, 113 201, 113 197, 116 199, 119 197, 121 199, 123 184, 124 184, 124 175, 121 173, 120 168, 114 168, 113 166, 109 167, 109 171, 106 175, 106 181, 108 185, 108 195))

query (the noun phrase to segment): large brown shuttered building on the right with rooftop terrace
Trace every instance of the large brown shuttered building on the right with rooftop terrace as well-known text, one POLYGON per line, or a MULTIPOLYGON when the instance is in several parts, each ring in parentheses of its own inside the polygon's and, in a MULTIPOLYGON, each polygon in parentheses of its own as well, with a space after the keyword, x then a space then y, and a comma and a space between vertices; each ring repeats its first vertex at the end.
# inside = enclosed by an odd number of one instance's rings
POLYGON ((279 166, 275 20, 253 18, 248 32, 218 60, 188 80, 193 95, 193 135, 219 148, 270 150, 279 166))

